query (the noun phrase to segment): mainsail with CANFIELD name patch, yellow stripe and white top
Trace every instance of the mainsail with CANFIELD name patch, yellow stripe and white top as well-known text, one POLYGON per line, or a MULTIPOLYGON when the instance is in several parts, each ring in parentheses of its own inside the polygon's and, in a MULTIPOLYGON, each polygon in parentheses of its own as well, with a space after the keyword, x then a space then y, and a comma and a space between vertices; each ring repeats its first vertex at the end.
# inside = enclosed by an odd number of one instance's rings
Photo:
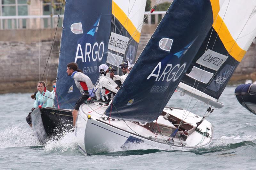
POLYGON ((178 91, 214 107, 223 106, 216 101, 256 36, 255 6, 255 0, 226 0, 222 4, 178 91))

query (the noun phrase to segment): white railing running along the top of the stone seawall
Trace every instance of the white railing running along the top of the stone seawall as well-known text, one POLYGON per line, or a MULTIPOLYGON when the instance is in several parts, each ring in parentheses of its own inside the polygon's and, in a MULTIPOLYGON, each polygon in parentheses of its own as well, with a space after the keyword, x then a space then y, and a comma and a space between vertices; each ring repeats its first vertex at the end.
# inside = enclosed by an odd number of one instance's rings
MULTIPOLYGON (((164 17, 166 11, 145 12, 144 16, 150 14, 145 25, 158 24, 164 17)), ((39 29, 55 28, 58 15, 27 15, 27 16, 0 16, 0 29, 39 29)), ((62 26, 63 15, 60 15, 59 27, 62 26)))

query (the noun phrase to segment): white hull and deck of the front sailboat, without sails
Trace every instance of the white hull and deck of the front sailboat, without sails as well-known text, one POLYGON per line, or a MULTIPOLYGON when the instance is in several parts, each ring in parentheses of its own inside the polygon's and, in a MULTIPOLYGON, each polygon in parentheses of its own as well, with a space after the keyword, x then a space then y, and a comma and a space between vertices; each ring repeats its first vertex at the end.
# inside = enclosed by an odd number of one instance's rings
MULTIPOLYGON (((123 120, 107 120, 108 117, 103 115, 106 110, 106 105, 100 105, 102 103, 95 102, 89 105, 82 105, 79 109, 76 122, 76 137, 80 148, 88 154, 96 154, 99 152, 111 152, 116 151, 122 147, 129 149, 130 144, 146 144, 154 146, 163 150, 182 150, 187 151, 190 149, 203 147, 212 141, 212 125, 210 122, 204 120, 198 127, 202 132, 193 131, 189 135, 185 135, 185 139, 173 138, 163 134, 153 133, 148 128, 141 126, 136 122, 123 121, 123 120), (96 109, 96 110, 95 110, 96 109), (94 110, 94 111, 93 111, 94 110), (87 116, 91 115, 88 119, 87 116), (206 129, 207 128, 207 129, 206 129)), ((172 108, 165 108, 164 112, 169 115, 175 116, 181 119, 185 110, 172 108)), ((202 118, 194 115, 193 113, 186 112, 187 118, 185 122, 189 123, 188 126, 196 125, 202 118)), ((171 122, 163 119, 163 116, 159 116, 157 120, 157 128, 171 128, 176 127, 171 122)), ((151 127, 152 128, 152 127, 151 127)), ((180 131, 180 130, 179 130, 180 131)), ((191 131, 191 130, 190 130, 191 131)), ((181 131, 180 131, 181 132, 181 131)), ((163 129, 161 130, 163 132, 163 129)), ((184 136, 184 135, 183 135, 184 136)))

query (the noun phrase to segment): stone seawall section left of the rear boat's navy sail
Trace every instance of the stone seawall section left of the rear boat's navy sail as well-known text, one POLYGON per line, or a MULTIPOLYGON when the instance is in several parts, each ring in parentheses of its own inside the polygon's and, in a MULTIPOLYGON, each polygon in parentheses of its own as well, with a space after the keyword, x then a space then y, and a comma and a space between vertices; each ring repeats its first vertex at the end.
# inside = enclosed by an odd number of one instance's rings
POLYGON ((39 54, 39 42, 0 41, 0 93, 35 91, 36 83, 41 80, 44 69, 43 80, 51 84, 50 82, 56 79, 57 75, 60 41, 54 44, 45 69, 52 42, 41 42, 39 54))

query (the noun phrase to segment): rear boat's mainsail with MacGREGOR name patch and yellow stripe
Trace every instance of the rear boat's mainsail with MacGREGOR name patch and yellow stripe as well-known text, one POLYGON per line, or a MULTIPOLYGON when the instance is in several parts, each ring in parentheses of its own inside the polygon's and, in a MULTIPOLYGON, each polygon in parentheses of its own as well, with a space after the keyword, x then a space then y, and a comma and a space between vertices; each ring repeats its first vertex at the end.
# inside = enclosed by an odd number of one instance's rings
POLYGON ((111 33, 108 41, 108 64, 120 67, 135 62, 146 0, 113 0, 111 33))

